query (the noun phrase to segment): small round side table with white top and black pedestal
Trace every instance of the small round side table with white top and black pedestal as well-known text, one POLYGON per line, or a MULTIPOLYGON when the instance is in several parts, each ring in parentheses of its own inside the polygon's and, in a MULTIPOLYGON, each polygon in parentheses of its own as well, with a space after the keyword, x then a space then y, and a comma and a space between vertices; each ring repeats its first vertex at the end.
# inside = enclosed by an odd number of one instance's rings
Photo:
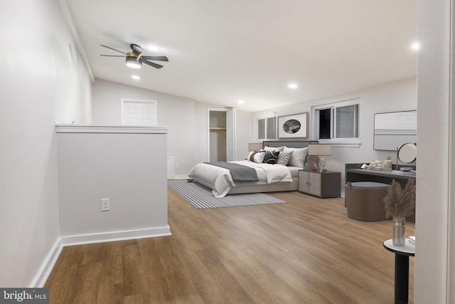
POLYGON ((406 239, 405 246, 393 246, 392 239, 388 239, 384 248, 395 253, 395 304, 405 304, 409 298, 410 256, 415 254, 415 245, 406 239))

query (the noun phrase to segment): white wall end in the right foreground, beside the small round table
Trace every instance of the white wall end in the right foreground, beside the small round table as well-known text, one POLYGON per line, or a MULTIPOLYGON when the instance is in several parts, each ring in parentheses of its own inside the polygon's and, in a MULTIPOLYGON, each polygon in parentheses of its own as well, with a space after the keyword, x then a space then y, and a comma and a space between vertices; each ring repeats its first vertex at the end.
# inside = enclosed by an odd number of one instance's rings
POLYGON ((418 9, 414 303, 455 303, 454 1, 419 0, 418 9))

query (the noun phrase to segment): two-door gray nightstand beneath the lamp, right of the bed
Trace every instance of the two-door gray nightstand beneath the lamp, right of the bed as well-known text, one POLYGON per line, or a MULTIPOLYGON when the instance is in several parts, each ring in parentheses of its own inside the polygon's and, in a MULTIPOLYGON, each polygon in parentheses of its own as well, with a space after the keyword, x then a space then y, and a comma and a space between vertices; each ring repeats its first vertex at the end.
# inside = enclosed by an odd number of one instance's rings
POLYGON ((341 173, 333 171, 299 171, 299 192, 326 197, 341 196, 341 173))

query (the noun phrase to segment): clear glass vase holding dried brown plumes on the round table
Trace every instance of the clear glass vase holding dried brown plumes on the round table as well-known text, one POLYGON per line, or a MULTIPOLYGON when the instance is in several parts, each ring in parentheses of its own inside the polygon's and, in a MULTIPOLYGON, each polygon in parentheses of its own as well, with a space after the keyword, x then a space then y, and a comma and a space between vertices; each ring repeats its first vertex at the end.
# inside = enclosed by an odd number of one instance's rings
POLYGON ((393 179, 383 201, 385 217, 393 218, 392 242, 395 246, 404 246, 405 219, 412 216, 415 209, 415 179, 409 179, 405 189, 393 179))

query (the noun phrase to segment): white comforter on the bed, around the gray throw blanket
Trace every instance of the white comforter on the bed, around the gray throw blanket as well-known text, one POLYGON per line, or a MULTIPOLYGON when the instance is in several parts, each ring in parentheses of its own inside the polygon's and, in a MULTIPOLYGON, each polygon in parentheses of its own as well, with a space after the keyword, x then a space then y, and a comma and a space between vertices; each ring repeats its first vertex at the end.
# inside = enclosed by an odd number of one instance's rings
MULTIPOLYGON (((248 162, 247 160, 237 161, 235 163, 256 169, 258 182, 254 182, 253 184, 292 182, 291 170, 282 164, 264 164, 248 162)), ((188 177, 195 179, 196 182, 212 185, 212 193, 216 197, 225 196, 232 187, 251 184, 249 182, 233 182, 228 169, 204 163, 196 164, 190 174, 188 174, 188 177)))

